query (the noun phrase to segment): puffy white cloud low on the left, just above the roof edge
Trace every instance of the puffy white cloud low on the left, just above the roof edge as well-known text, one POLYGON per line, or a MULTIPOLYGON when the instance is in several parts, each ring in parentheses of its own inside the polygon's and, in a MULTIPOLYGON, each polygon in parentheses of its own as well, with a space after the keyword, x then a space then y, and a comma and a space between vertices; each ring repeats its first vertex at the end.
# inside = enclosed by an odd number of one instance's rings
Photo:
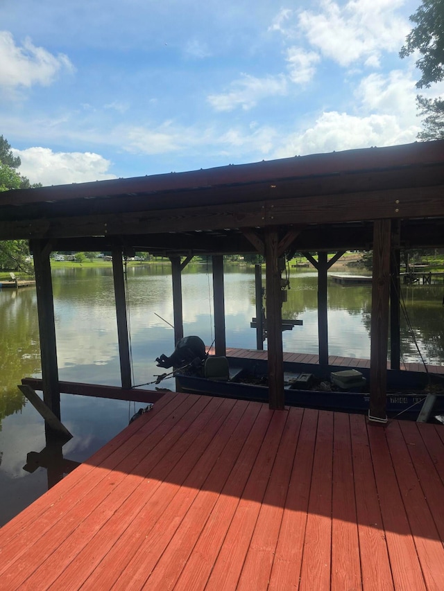
POLYGON ((19 172, 44 186, 114 179, 110 161, 92 152, 53 152, 49 148, 12 150, 22 160, 19 172))

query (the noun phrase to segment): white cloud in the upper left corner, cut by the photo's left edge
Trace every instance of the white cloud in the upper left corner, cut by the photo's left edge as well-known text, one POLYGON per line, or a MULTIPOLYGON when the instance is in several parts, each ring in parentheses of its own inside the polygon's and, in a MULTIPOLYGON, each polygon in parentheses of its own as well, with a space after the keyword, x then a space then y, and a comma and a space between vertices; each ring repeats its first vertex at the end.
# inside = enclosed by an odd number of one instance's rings
POLYGON ((0 31, 0 87, 49 85, 61 69, 74 70, 67 55, 53 55, 33 45, 28 37, 18 46, 11 33, 0 31))

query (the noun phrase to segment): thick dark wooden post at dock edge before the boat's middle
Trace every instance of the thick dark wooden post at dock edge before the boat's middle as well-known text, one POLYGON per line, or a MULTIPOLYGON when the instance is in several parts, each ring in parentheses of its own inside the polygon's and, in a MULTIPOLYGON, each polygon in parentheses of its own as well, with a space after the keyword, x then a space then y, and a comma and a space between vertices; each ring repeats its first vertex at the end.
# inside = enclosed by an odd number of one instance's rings
POLYGON ((268 343, 268 404, 271 409, 284 408, 284 354, 282 351, 282 301, 278 243, 278 230, 266 228, 266 332, 268 343))

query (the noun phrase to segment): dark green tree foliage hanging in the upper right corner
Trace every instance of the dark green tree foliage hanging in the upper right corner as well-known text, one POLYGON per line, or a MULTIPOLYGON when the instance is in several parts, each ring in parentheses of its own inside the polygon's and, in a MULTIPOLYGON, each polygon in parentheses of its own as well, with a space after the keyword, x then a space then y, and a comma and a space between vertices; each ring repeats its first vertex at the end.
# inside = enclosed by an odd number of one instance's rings
MULTIPOLYGON (((416 66, 422 76, 417 88, 429 88, 434 82, 444 80, 444 0, 422 0, 410 20, 416 24, 406 37, 400 58, 419 51, 416 66)), ((444 139, 444 100, 416 97, 420 115, 424 116, 424 130, 418 139, 444 139)))

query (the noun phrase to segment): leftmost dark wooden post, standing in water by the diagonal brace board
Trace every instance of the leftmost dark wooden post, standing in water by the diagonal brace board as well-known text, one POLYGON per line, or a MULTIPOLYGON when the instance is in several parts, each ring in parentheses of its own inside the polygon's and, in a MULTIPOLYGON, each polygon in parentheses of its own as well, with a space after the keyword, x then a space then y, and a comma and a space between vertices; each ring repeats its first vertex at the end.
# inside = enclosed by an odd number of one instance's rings
POLYGON ((30 247, 34 258, 35 287, 37 290, 43 400, 60 421, 56 325, 51 265, 49 262, 51 244, 46 240, 31 240, 30 247))

